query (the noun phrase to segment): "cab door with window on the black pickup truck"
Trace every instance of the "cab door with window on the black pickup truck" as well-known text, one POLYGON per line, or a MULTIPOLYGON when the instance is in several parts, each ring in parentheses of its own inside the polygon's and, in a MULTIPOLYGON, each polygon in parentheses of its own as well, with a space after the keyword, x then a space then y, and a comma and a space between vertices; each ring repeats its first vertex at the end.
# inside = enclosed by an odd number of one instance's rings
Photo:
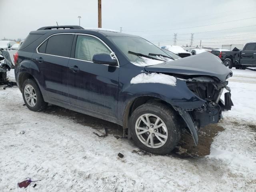
POLYGON ((249 43, 241 52, 240 64, 250 66, 256 64, 256 44, 249 43))

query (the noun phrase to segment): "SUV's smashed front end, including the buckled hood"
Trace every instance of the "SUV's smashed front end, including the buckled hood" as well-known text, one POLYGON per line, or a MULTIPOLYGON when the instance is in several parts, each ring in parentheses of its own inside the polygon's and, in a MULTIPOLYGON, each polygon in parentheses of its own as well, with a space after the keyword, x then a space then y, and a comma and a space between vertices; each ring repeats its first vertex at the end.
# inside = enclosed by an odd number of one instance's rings
POLYGON ((231 110, 233 106, 227 81, 232 76, 232 71, 211 53, 204 52, 172 62, 147 66, 145 70, 172 75, 177 78, 177 82, 186 82, 185 86, 193 96, 190 99, 183 99, 182 96, 184 104, 173 104, 173 107, 186 122, 196 145, 200 127, 218 123, 222 118, 222 111, 231 110), (224 89, 228 90, 224 94, 225 101, 220 99, 224 89), (194 107, 192 104, 198 99, 202 105, 194 107))

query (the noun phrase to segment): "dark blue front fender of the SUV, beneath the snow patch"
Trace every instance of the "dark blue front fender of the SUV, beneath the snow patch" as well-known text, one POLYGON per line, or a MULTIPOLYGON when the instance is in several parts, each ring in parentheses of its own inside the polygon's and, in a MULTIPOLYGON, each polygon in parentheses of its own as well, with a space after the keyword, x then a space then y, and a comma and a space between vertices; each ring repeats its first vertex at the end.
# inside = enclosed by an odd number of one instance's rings
POLYGON ((123 101, 119 100, 119 102, 124 102, 124 104, 118 104, 118 106, 126 106, 125 108, 118 108, 118 114, 122 114, 122 119, 125 116, 127 106, 136 98, 142 96, 158 98, 169 103, 176 111, 179 112, 192 134, 195 145, 198 144, 196 126, 194 125, 190 114, 186 110, 199 108, 205 104, 206 101, 193 94, 193 92, 191 92, 186 86, 186 82, 177 80, 176 86, 159 83, 144 83, 144 86, 142 86, 142 84, 131 84, 121 92, 120 98, 123 98, 122 94, 126 94, 127 96, 127 92, 130 94, 130 98, 126 98, 126 100, 123 101))

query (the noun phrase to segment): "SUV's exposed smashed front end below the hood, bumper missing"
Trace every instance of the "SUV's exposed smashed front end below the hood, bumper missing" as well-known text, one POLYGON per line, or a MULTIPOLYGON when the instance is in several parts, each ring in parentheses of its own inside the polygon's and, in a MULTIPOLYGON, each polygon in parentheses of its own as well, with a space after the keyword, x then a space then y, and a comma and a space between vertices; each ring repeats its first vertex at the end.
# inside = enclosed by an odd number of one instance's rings
POLYGON ((205 101, 205 104, 195 109, 175 108, 186 122, 197 145, 198 130, 208 124, 218 123, 222 118, 222 111, 231 110, 233 106, 228 81, 220 82, 217 78, 208 76, 178 79, 186 81, 189 90, 205 101), (225 101, 220 98, 224 89, 228 91, 224 94, 225 101))

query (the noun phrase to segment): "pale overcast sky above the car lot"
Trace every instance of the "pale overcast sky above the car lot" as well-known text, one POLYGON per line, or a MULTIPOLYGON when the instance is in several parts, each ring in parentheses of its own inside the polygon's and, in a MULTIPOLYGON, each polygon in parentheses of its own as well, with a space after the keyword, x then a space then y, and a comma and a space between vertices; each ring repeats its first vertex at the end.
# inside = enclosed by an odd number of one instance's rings
MULTIPOLYGON (((102 0, 102 28, 160 45, 221 47, 256 42, 256 0, 102 0), (214 32, 212 32, 214 31, 214 32)), ((0 0, 0 39, 26 38, 42 26, 98 27, 98 0, 0 0)))

